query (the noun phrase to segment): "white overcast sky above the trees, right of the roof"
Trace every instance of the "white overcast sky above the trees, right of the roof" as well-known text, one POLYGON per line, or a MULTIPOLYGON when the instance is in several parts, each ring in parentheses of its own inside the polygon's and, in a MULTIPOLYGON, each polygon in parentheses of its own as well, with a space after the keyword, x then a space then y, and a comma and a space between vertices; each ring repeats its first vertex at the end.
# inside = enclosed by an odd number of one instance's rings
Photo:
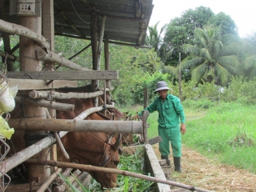
POLYGON ((160 30, 171 19, 180 17, 181 13, 189 8, 205 6, 211 8, 214 14, 224 12, 234 20, 240 37, 256 31, 256 1, 255 0, 153 0, 154 8, 149 26, 154 26, 157 21, 160 30))

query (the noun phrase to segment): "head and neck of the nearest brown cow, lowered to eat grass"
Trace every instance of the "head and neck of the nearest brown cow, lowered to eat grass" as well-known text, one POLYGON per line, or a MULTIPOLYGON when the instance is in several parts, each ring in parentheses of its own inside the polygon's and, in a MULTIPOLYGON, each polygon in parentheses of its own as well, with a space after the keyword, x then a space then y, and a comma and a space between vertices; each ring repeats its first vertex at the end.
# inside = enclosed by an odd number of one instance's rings
MULTIPOLYGON (((99 133, 100 134, 100 133, 99 133)), ((104 134, 104 133, 101 133, 104 134)), ((81 164, 92 164, 106 168, 117 168, 119 163, 118 146, 120 145, 121 135, 113 143, 113 136, 106 142, 100 140, 90 132, 68 132, 61 141, 70 160, 76 159, 81 164)), ((58 161, 69 162, 58 147, 58 161)), ((116 174, 105 172, 88 172, 100 183, 102 188, 114 188, 116 186, 116 174)))

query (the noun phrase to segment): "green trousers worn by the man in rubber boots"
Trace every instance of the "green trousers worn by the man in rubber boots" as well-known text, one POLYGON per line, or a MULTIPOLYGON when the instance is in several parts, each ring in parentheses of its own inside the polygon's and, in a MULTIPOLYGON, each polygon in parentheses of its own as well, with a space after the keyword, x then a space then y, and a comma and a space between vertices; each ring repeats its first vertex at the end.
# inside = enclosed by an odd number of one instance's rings
POLYGON ((181 156, 181 138, 180 138, 180 127, 172 128, 161 128, 158 126, 158 134, 161 136, 162 140, 159 143, 159 152, 161 156, 170 155, 170 142, 172 146, 173 157, 181 156))

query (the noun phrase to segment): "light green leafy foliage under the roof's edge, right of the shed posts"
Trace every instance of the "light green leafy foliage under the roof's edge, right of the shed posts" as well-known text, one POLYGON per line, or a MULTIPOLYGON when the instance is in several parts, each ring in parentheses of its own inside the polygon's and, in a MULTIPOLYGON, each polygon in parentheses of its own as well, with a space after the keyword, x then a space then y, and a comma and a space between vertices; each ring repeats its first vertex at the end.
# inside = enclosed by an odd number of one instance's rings
MULTIPOLYGON (((136 85, 143 85, 143 79, 159 73, 160 58, 153 49, 137 49, 134 47, 111 45, 109 46, 111 70, 118 70, 118 80, 112 81, 113 97, 120 105, 134 104, 134 97, 143 99, 143 89, 136 85), (136 90, 142 92, 134 93, 136 90), (137 95, 138 93, 138 95, 137 95), (137 96, 135 96, 137 95, 137 96)), ((136 99, 140 100, 140 99, 136 99)))

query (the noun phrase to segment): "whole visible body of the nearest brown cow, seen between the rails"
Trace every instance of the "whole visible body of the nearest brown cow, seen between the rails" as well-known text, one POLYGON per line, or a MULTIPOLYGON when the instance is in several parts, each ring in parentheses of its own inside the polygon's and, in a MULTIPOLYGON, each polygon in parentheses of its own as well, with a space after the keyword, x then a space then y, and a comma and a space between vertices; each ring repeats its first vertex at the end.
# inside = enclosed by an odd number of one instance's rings
MULTIPOLYGON (((68 99, 60 100, 66 104, 74 104, 74 111, 56 111, 56 117, 61 119, 73 119, 84 110, 92 108, 92 99, 68 99)), ((106 120, 97 113, 92 113, 86 117, 87 120, 106 120)), ((107 118, 107 120, 109 120, 107 118)), ((112 136, 103 132, 68 132, 67 136, 61 141, 67 150, 70 160, 78 160, 81 164, 92 164, 94 166, 106 166, 117 168, 119 163, 118 147, 120 146, 121 134, 115 140, 112 136)), ((65 159, 58 147, 58 160, 70 161, 65 159)), ((116 174, 104 172, 89 172, 97 180, 102 188, 114 188, 116 186, 116 174)))

